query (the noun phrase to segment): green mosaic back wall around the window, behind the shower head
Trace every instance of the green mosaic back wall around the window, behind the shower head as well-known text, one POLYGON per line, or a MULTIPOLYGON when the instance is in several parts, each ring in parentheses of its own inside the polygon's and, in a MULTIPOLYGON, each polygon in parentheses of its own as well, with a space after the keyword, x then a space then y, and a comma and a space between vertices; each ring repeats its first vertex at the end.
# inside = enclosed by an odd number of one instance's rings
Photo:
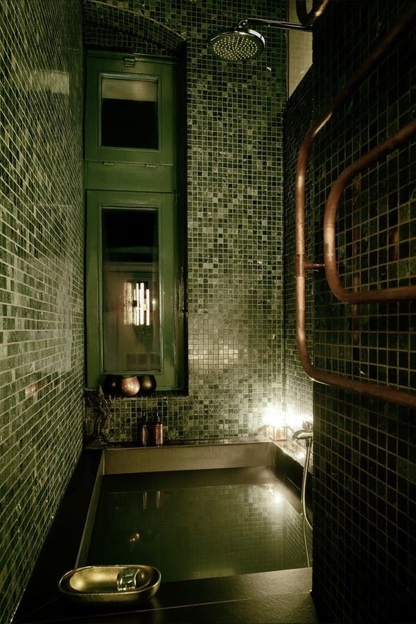
MULTIPOLYGON (((263 417, 281 410, 283 389, 286 35, 269 29, 266 53, 241 64, 211 57, 206 42, 253 14, 286 19, 286 2, 106 6, 84 2, 87 47, 154 54, 159 41, 164 54, 177 43, 155 24, 187 40, 189 395, 159 399, 165 433, 178 440, 266 435, 263 417), (133 12, 119 12, 113 31, 109 6, 133 12)), ((137 417, 155 406, 155 399, 115 400, 110 440, 137 439, 137 417)))

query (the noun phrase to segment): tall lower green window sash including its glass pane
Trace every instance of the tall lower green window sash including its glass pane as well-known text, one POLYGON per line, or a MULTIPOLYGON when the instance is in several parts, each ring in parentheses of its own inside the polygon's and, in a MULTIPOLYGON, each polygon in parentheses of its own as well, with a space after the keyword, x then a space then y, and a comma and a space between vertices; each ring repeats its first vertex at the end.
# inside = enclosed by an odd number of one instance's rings
POLYGON ((182 311, 170 193, 87 193, 87 385, 155 375, 178 387, 182 311))

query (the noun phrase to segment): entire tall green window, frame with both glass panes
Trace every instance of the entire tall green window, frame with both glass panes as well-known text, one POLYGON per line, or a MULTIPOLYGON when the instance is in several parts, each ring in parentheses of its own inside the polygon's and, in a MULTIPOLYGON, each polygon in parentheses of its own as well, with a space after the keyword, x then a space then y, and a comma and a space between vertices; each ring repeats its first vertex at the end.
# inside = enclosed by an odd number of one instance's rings
POLYGON ((184 223, 177 200, 175 64, 94 52, 87 57, 86 76, 87 388, 96 388, 107 374, 149 373, 158 390, 183 389, 184 223), (148 223, 157 224, 151 265, 143 232, 148 223), (105 227, 118 232, 111 234, 119 241, 116 252, 114 245, 106 248, 105 227))

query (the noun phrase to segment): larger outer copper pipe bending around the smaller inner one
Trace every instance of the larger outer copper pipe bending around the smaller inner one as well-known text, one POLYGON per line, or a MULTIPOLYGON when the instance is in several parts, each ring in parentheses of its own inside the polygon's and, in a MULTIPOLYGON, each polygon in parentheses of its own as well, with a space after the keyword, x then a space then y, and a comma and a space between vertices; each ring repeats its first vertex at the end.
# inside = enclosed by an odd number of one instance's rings
POLYGON ((406 30, 408 23, 415 19, 416 3, 411 3, 410 8, 397 22, 392 31, 381 41, 379 46, 370 53, 367 59, 358 68, 349 82, 340 89, 327 110, 316 119, 302 141, 299 157, 297 159, 295 177, 295 314, 296 314, 296 343, 299 353, 300 363, 306 374, 313 381, 334 385, 344 390, 358 392, 364 395, 379 397, 385 401, 390 401, 406 407, 416 407, 416 397, 406 392, 385 388, 375 383, 349 379, 345 376, 336 375, 324 370, 320 370, 313 365, 309 357, 306 343, 306 272, 311 268, 316 268, 318 263, 307 261, 305 258, 305 180, 306 168, 308 166, 309 154, 315 137, 324 128, 334 112, 336 112, 349 99, 352 94, 370 75, 375 67, 388 54, 400 35, 406 30))

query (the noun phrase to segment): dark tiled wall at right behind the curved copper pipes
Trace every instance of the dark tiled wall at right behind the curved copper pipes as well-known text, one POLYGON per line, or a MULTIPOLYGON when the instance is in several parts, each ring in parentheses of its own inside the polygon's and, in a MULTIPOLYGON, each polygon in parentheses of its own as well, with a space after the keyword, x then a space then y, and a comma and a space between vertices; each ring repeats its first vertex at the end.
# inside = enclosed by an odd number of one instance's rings
MULTIPOLYGON (((314 31, 311 119, 409 5, 329 3, 314 31)), ((413 25, 315 142, 311 259, 322 259, 324 202, 336 177, 414 118, 415 52, 413 25)), ((304 106, 306 114, 306 101, 304 106)), ((347 189, 338 217, 339 266, 347 287, 354 277, 363 290, 414 283, 414 163, 413 141, 347 189)), ((324 276, 315 275, 313 288, 315 365, 414 392, 415 302, 354 309, 336 300, 324 276)), ((412 621, 415 410, 322 384, 315 384, 313 402, 313 597, 320 617, 343 623, 412 621)))

